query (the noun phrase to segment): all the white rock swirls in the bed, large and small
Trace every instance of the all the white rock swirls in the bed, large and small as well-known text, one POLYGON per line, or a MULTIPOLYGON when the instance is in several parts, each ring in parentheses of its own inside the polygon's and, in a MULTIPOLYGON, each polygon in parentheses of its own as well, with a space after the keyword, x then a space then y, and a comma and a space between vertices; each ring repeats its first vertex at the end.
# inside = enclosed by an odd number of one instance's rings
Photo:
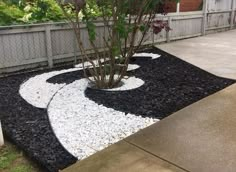
MULTIPOLYGON (((141 53, 137 57, 160 57, 157 54, 141 53)), ((89 66, 88 66, 89 67, 89 66)), ((129 65, 128 70, 138 69, 129 65)), ((19 93, 29 104, 48 108, 48 116, 55 135, 61 144, 78 159, 83 159, 105 147, 145 128, 158 119, 125 114, 85 97, 87 79, 73 83, 52 84, 47 80, 56 75, 82 70, 81 67, 44 73, 30 78, 20 86, 19 93), (53 97, 54 96, 54 97, 53 97)), ((107 91, 135 89, 144 84, 141 79, 123 79, 120 88, 107 91)))

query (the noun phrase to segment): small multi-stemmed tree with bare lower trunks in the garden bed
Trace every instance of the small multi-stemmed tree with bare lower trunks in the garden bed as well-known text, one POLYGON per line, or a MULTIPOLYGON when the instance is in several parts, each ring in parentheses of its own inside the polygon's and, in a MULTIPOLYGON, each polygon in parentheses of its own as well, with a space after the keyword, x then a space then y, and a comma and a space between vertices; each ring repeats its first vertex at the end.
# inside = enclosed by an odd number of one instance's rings
POLYGON ((167 22, 155 19, 157 12, 165 14, 162 0, 66 0, 59 3, 75 32, 84 74, 100 89, 114 88, 121 82, 130 58, 150 29, 155 34, 162 29, 169 31, 167 22), (68 15, 68 9, 74 15, 68 15), (96 34, 95 20, 103 23, 103 35, 96 34), (81 24, 86 26, 93 57, 88 55, 83 42, 81 24), (102 49, 96 44, 101 36, 102 49), (91 67, 85 66, 85 62, 91 67))

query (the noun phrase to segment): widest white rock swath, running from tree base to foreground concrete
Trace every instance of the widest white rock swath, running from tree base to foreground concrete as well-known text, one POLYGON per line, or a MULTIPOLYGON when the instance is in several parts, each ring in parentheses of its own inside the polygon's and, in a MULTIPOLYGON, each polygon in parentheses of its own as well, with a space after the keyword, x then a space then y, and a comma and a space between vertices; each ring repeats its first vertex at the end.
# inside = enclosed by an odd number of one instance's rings
POLYGON ((78 159, 84 159, 158 121, 98 105, 85 97, 87 84, 86 79, 81 79, 63 87, 48 106, 55 135, 78 159))

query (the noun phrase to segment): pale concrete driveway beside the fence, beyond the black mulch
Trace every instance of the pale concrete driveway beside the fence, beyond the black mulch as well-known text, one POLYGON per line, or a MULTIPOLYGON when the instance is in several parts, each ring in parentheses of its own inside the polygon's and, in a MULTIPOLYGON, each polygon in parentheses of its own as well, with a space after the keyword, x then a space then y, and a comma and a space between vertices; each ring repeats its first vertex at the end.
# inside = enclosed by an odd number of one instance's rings
POLYGON ((217 76, 236 79, 236 30, 157 47, 217 76))

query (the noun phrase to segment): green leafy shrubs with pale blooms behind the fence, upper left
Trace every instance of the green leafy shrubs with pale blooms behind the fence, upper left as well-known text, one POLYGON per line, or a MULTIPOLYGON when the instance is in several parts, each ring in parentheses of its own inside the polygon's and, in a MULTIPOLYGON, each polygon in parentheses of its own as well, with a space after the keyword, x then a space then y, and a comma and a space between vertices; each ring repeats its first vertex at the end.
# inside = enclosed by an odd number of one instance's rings
MULTIPOLYGON (((101 16, 101 11, 93 0, 87 0, 90 16, 101 16)), ((109 10, 107 9, 107 13, 109 10)), ((68 14, 74 15, 71 8, 68 14)), ((83 16, 82 14, 80 14, 83 16)), ((64 21, 65 16, 57 0, 0 0, 0 25, 32 24, 64 21)))

